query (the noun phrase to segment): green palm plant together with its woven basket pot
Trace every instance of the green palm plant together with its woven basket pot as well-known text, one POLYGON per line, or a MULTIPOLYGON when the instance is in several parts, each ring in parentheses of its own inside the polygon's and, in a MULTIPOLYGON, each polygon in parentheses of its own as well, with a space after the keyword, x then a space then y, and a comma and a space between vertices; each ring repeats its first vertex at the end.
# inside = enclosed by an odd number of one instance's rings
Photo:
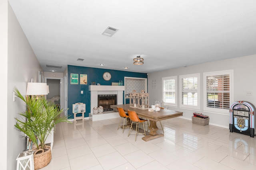
POLYGON ((67 117, 61 116, 63 109, 59 109, 44 97, 24 98, 17 88, 14 94, 26 104, 26 110, 19 113, 21 118, 15 118, 16 129, 23 132, 22 137, 28 137, 34 144, 35 170, 48 165, 51 160, 51 148, 45 145, 46 138, 54 126, 60 122, 69 122, 67 117))

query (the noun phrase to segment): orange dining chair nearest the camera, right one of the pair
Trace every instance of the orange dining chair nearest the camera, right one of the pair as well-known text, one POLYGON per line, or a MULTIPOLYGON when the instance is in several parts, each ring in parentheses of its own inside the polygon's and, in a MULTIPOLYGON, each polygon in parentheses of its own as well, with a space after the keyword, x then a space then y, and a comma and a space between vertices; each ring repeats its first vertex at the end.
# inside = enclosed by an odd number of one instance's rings
MULTIPOLYGON (((144 122, 147 121, 147 120, 140 119, 135 111, 130 111, 130 110, 128 110, 128 115, 129 115, 130 120, 132 121, 132 125, 133 125, 133 123, 136 123, 136 130, 135 130, 135 133, 132 133, 132 134, 135 134, 135 141, 136 141, 136 136, 137 136, 137 134, 143 134, 143 135, 146 136, 146 131, 145 131, 145 127, 144 127, 144 122), (143 129, 144 129, 144 133, 140 133, 140 132, 139 132, 139 125, 138 125, 139 123, 142 123, 143 129)), ((131 125, 131 127, 130 127, 130 131, 131 131, 131 129, 132 129, 132 125, 131 125)), ((129 135, 130 135, 130 131, 129 131, 129 133, 128 133, 128 137, 129 137, 129 135)))

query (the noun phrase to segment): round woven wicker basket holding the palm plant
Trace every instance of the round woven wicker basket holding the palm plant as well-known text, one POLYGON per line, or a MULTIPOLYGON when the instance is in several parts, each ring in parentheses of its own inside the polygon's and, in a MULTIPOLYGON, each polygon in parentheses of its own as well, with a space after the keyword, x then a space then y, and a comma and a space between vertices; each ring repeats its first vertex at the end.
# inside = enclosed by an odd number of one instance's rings
POLYGON ((36 150, 36 148, 32 149, 32 150, 35 150, 34 152, 35 170, 44 168, 46 165, 50 163, 52 159, 51 147, 46 146, 45 149, 47 149, 47 151, 44 151, 43 149, 36 150), (42 152, 42 153, 36 154, 37 152, 42 152))

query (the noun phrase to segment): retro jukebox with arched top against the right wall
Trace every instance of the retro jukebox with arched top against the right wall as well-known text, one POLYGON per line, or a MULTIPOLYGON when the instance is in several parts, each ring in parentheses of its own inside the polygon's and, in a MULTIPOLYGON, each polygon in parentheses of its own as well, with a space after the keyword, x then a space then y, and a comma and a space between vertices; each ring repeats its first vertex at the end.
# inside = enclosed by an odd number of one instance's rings
POLYGON ((230 106, 230 132, 255 136, 255 107, 246 101, 237 101, 230 106))

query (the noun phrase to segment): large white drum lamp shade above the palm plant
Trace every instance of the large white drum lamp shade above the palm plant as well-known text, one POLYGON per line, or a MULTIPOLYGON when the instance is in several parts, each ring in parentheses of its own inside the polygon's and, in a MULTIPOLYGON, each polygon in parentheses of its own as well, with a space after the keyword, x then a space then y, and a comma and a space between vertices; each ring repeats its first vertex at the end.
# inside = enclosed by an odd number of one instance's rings
POLYGON ((28 83, 26 95, 47 95, 46 83, 28 83))

